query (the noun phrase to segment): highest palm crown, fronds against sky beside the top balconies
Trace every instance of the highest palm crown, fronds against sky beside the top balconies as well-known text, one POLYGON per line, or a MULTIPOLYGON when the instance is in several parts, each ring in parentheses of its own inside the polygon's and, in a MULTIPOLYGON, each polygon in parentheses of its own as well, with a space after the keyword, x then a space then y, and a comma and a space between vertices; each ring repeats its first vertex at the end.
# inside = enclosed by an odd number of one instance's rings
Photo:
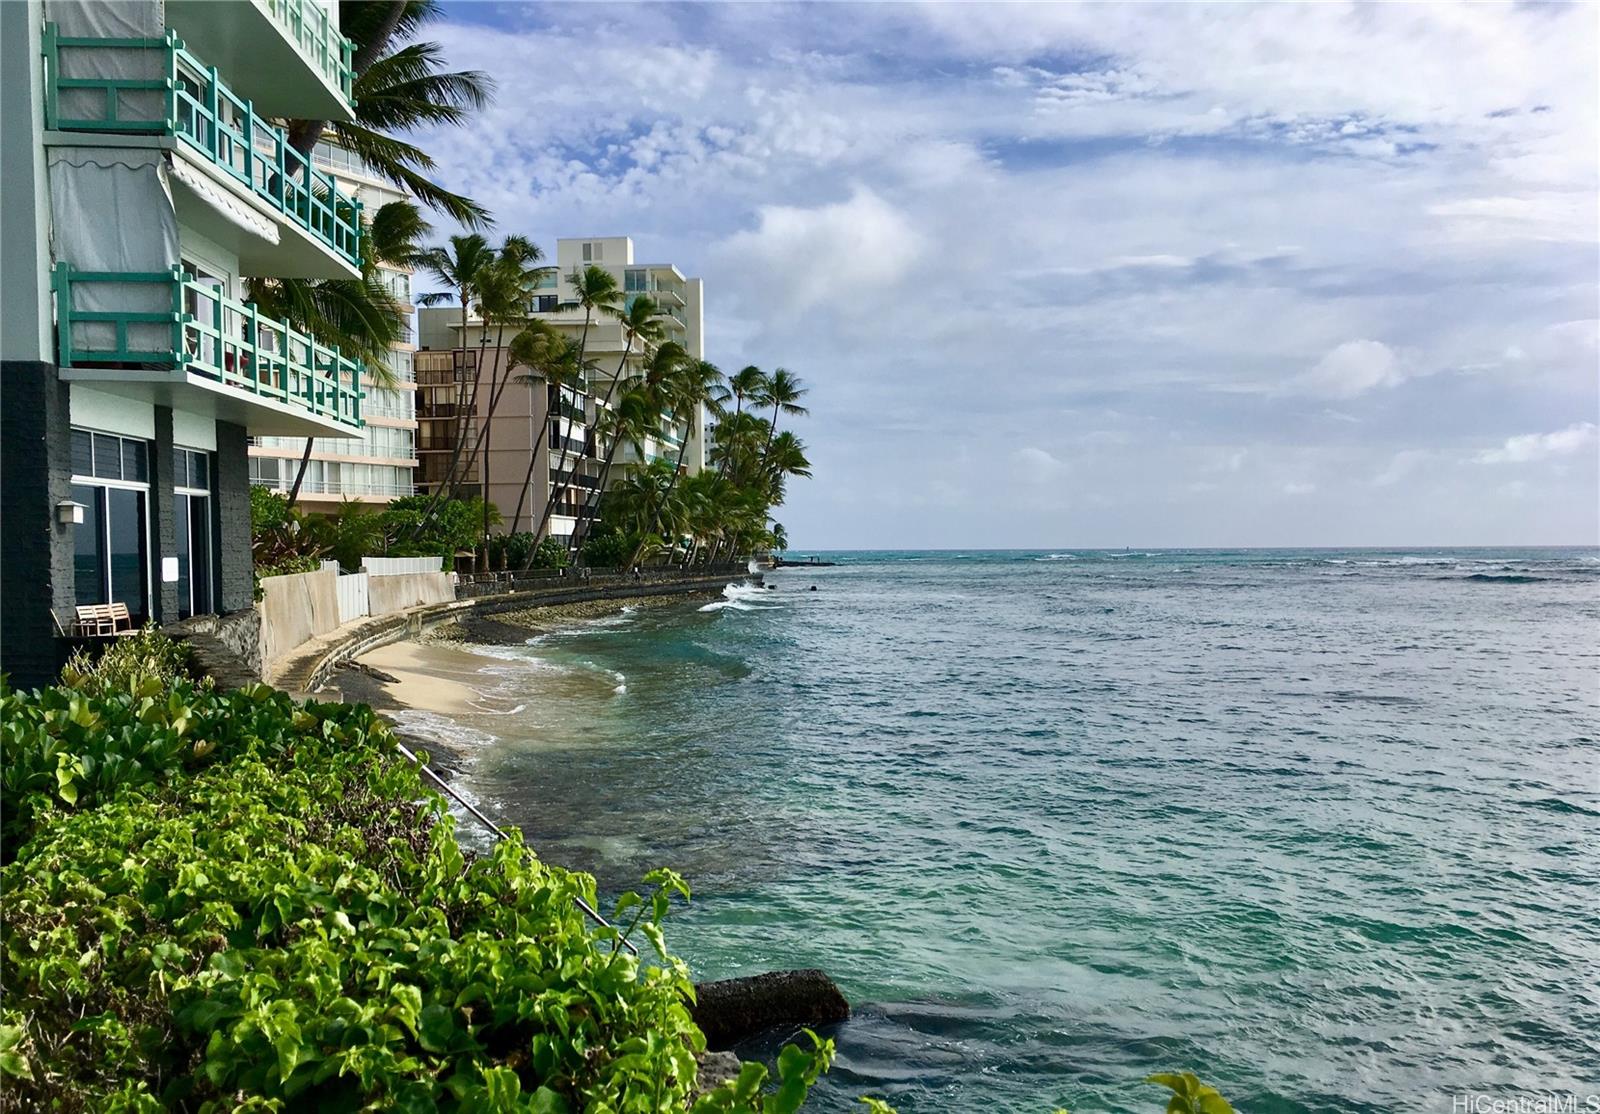
POLYGON ((437 43, 406 43, 442 16, 434 0, 344 0, 339 29, 352 43, 355 120, 288 120, 290 146, 302 155, 331 133, 378 176, 466 227, 490 224, 486 210, 435 182, 434 160, 395 136, 424 126, 464 125, 485 107, 494 82, 478 70, 442 72, 437 43))

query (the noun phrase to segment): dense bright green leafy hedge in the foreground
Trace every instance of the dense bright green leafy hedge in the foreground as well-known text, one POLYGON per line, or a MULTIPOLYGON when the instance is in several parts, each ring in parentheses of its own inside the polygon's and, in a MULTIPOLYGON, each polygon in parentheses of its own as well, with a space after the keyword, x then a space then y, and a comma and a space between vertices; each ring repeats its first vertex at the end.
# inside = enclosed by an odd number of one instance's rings
MULTIPOLYGON (((461 852, 365 706, 146 677, 3 701, 0 1072, 24 1109, 682 1111, 659 872, 618 932, 520 837, 461 852), (630 928, 632 932, 632 928, 630 928)), ((794 1111, 832 1045, 694 1109, 794 1111)))

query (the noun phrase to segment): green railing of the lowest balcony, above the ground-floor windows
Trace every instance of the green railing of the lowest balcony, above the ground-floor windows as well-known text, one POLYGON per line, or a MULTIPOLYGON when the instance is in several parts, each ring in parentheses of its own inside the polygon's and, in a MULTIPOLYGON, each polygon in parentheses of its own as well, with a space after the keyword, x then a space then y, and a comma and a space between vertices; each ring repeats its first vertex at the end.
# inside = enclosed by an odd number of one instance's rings
POLYGON ((58 262, 56 333, 64 368, 154 365, 362 427, 362 365, 251 303, 166 272, 83 272, 58 262), (85 303, 109 307, 88 309, 85 303), (118 304, 120 303, 120 304, 118 304))

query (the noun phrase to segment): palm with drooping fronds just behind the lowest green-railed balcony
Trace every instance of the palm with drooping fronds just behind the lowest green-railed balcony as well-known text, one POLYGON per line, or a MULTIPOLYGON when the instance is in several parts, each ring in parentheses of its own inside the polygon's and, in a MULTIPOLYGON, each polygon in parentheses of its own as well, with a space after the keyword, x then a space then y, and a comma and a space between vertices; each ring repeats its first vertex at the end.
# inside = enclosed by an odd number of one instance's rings
MULTIPOLYGON (((320 343, 338 347, 342 355, 360 360, 374 386, 392 389, 390 346, 400 339, 406 320, 378 270, 384 264, 411 266, 419 254, 418 240, 427 232, 427 221, 416 205, 389 202, 366 221, 360 278, 248 278, 246 296, 262 312, 282 317, 320 343)), ((307 437, 288 490, 291 507, 306 482, 314 445, 315 439, 307 437)))

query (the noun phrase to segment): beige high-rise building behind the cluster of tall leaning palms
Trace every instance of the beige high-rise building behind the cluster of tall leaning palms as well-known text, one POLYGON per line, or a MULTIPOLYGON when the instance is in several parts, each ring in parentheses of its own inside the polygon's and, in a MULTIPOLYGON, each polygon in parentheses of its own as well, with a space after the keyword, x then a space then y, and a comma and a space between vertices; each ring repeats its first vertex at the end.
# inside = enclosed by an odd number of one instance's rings
MULTIPOLYGON (((632 304, 640 295, 653 298, 659 307, 659 322, 666 339, 677 341, 691 359, 704 359, 704 301, 699 278, 688 278, 669 262, 635 262, 634 242, 629 237, 574 237, 555 242, 554 270, 531 291, 530 312, 578 338, 584 331, 584 311, 576 306, 576 293, 568 282, 573 270, 587 266, 605 267, 616 277, 624 304, 632 304)), ((546 499, 560 490, 563 477, 571 475, 562 506, 550 515, 544 533, 571 536, 574 515, 581 499, 594 491, 598 482, 605 447, 597 443, 594 427, 598 411, 613 395, 613 384, 638 375, 645 354, 634 344, 626 355, 622 327, 614 317, 595 315, 589 323, 586 359, 595 365, 587 391, 539 392, 536 387, 512 384, 506 387, 494 408, 493 429, 488 435, 488 451, 474 453, 478 431, 490 408, 490 383, 504 381, 504 354, 498 347, 509 341, 514 328, 491 325, 485 330, 475 315, 462 328, 459 306, 440 306, 418 311, 418 421, 419 421, 419 490, 430 488, 450 475, 451 461, 459 472, 472 459, 470 474, 462 490, 478 493, 488 488, 488 498, 499 507, 501 530, 531 530, 538 525, 546 499), (483 367, 478 370, 482 349, 483 367), (461 423, 456 407, 470 400, 470 384, 477 381, 475 413, 461 423), (549 418, 552 410, 555 416, 549 418), (528 482, 528 458, 539 440, 541 423, 554 424, 544 434, 534 463, 533 490, 523 495, 528 482), (466 445, 454 451, 458 431, 466 427, 466 445), (555 442, 554 448, 550 442, 555 442), (518 501, 523 506, 515 515, 518 501), (515 522, 514 522, 515 517, 515 522)), ((514 370, 515 373, 515 370, 514 370)), ((686 416, 661 439, 648 439, 643 459, 677 461, 682 453, 683 467, 694 474, 706 463, 706 415, 686 416)), ((613 482, 627 467, 637 466, 640 456, 632 447, 618 450, 613 463, 613 482)))

